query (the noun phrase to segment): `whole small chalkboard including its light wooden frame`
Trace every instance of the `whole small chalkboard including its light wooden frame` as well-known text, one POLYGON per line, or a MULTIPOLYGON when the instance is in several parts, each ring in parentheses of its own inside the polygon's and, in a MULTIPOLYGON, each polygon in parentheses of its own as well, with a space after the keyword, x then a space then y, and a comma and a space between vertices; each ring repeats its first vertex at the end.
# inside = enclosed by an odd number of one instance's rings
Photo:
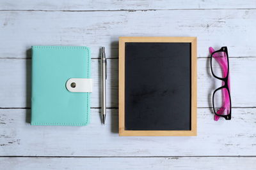
POLYGON ((196 38, 120 38, 121 136, 196 134, 195 43, 196 38))

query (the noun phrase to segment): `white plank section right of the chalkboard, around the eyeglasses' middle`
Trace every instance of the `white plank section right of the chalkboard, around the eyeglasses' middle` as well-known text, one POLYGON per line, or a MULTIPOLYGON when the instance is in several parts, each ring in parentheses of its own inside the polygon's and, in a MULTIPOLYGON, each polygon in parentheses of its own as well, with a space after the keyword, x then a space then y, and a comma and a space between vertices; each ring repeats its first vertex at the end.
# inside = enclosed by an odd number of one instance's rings
MULTIPOLYGON (((230 93, 232 107, 256 106, 256 80, 250 74, 256 73, 254 58, 230 59, 230 93), (254 66, 253 66, 254 65, 254 66), (245 76, 247 75, 247 76, 245 76), (250 89, 250 90, 249 90, 250 89), (249 90, 249 91, 247 91, 249 90), (253 97, 254 96, 254 97, 253 97), (246 104, 247 103, 247 104, 246 104)), ((198 107, 212 107, 212 92, 221 87, 221 81, 213 78, 210 59, 198 59, 198 107)))

